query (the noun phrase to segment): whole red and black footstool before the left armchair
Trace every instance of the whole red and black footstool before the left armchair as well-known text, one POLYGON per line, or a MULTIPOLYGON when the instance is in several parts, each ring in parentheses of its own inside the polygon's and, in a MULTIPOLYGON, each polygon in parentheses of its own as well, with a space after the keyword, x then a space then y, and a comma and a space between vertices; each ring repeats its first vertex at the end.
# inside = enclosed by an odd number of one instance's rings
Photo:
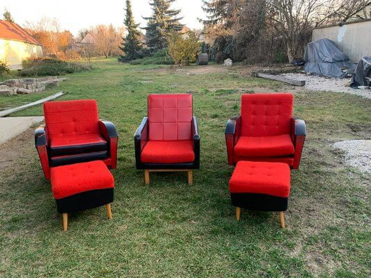
POLYGON ((68 213, 106 205, 112 219, 114 178, 103 161, 71 164, 50 170, 53 196, 58 212, 63 214, 63 230, 67 230, 68 213))

